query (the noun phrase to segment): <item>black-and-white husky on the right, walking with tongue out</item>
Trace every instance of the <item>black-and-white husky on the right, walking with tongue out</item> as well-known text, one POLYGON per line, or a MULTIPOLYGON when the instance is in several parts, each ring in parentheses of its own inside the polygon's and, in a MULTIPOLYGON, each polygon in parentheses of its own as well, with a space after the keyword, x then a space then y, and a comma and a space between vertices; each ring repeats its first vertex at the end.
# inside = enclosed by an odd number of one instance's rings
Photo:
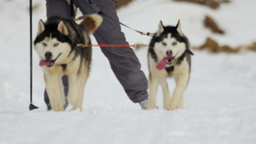
POLYGON ((160 21, 148 48, 148 109, 156 107, 159 85, 166 110, 183 108, 183 92, 189 83, 190 55, 194 54, 189 50, 189 40, 183 35, 179 20, 177 26, 163 26, 160 21), (166 82, 168 77, 174 77, 176 82, 171 99, 166 82))

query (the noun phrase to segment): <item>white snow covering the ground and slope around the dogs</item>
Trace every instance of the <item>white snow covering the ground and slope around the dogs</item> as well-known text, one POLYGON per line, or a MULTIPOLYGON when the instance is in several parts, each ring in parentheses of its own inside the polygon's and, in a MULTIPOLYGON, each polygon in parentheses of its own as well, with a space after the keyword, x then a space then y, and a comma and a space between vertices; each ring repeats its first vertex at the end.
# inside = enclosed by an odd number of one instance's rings
MULTIPOLYGON (((107 58, 93 49, 83 112, 47 112, 43 72, 33 51, 33 104, 29 111, 28 1, 0 0, 0 143, 1 144, 253 144, 256 141, 256 53, 212 55, 193 52, 183 110, 165 111, 161 91, 158 110, 143 111, 132 103, 113 75, 107 58)), ((45 1, 33 0, 33 37, 38 20, 45 20, 45 1)), ((136 0, 119 9, 119 19, 143 32, 155 32, 160 20, 176 25, 194 46, 206 37, 237 46, 255 41, 255 0, 232 0, 217 10, 171 0, 136 0), (202 20, 209 14, 226 31, 212 34, 202 20)), ((150 37, 122 27, 127 41, 149 43, 150 37)), ((93 39, 93 43, 96 41, 93 39)), ((136 51, 148 75, 147 49, 136 51)), ((170 89, 175 84, 170 80, 170 89)), ((70 107, 68 107, 70 108, 70 107)))

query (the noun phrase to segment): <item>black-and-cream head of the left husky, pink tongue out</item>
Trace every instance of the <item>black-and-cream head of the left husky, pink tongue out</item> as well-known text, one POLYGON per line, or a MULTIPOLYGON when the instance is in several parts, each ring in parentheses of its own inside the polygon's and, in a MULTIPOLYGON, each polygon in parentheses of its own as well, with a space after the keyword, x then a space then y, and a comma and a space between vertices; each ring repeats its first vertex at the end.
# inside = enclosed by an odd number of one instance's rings
POLYGON ((69 55, 72 42, 68 37, 67 26, 62 20, 56 25, 38 23, 38 36, 34 41, 35 49, 40 57, 40 66, 54 66, 69 55))

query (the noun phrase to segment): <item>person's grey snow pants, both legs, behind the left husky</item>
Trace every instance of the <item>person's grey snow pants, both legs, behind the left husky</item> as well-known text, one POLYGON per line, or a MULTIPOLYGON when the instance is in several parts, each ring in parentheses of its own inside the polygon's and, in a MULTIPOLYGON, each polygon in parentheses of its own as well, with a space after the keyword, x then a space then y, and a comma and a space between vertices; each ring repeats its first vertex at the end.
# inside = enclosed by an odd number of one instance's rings
MULTIPOLYGON (((63 18, 70 18, 70 7, 66 0, 46 0, 47 17, 59 15, 63 18)), ((92 0, 103 12, 111 15, 113 19, 119 20, 115 5, 112 0, 92 0)), ((73 0, 73 3, 83 14, 94 14, 96 11, 90 6, 87 0, 73 0)), ((80 16, 80 15, 79 15, 80 16)), ((94 33, 97 43, 102 44, 129 44, 125 40, 125 35, 121 32, 119 24, 103 19, 102 25, 94 33)), ((125 93, 131 101, 140 102, 148 98, 148 80, 141 71, 141 65, 133 49, 103 47, 104 55, 109 60, 110 66, 118 78, 119 83, 125 89, 125 93)), ((67 76, 62 78, 65 95, 68 92, 67 76)), ((49 104, 47 92, 44 92, 44 101, 49 104)))

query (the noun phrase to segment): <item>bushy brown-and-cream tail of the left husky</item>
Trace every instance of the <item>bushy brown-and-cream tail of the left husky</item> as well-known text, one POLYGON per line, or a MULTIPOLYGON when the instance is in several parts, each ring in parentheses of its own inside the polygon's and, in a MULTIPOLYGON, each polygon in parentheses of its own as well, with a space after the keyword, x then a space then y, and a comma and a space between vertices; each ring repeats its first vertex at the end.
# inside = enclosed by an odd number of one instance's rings
POLYGON ((102 16, 99 14, 89 14, 85 19, 80 23, 80 26, 84 26, 84 29, 90 36, 96 29, 102 24, 102 16))

